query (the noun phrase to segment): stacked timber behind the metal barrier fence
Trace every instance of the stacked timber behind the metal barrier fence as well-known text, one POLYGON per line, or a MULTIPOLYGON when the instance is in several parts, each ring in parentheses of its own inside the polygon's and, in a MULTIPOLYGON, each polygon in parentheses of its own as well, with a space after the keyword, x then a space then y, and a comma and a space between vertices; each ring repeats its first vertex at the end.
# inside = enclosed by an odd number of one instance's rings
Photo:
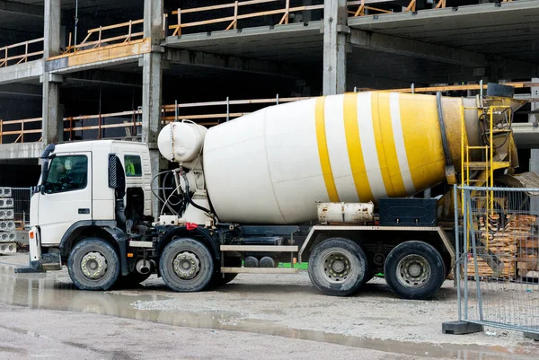
MULTIPOLYGON (((479 277, 514 279, 517 268, 536 269, 537 238, 535 215, 507 215, 505 224, 498 215, 489 218, 489 225, 480 219, 477 242, 479 277), (535 248, 534 248, 535 246, 535 248), (534 268, 535 267, 535 268, 534 268)), ((472 250, 470 250, 472 252, 472 250)), ((520 274, 519 276, 522 276, 520 274)), ((473 258, 468 262, 468 277, 474 277, 473 258)))

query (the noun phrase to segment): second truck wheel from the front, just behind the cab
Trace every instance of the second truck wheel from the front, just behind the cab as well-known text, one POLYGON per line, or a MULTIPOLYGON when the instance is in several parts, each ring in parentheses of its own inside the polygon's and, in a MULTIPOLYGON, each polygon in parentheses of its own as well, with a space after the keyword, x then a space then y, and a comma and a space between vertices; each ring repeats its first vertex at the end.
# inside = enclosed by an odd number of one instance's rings
POLYGON ((164 283, 177 292, 204 289, 214 275, 214 260, 208 248, 190 238, 173 240, 163 250, 159 270, 164 283))

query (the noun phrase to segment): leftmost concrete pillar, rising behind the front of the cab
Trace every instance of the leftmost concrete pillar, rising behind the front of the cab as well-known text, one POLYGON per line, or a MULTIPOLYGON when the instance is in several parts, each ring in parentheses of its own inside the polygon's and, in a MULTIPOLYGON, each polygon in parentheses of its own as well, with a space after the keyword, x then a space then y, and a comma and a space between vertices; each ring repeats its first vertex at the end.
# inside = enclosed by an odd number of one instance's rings
MULTIPOLYGON (((43 29, 43 61, 60 53, 60 4, 61 0, 45 0, 45 18, 43 29)), ((58 143, 64 139, 63 114, 60 106, 59 75, 47 72, 43 66, 43 109, 42 141, 45 144, 58 143)))

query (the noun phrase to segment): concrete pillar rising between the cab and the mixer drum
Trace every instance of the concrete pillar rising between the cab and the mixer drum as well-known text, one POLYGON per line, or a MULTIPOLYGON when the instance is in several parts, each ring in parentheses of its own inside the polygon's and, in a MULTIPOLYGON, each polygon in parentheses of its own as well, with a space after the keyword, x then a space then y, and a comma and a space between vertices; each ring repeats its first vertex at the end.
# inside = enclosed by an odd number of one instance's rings
MULTIPOLYGON (((152 176, 161 169, 157 136, 161 129, 163 80, 163 0, 145 0, 144 37, 152 40, 152 51, 142 58, 142 141, 150 148, 152 176)), ((153 199, 153 215, 159 215, 160 204, 153 199)))

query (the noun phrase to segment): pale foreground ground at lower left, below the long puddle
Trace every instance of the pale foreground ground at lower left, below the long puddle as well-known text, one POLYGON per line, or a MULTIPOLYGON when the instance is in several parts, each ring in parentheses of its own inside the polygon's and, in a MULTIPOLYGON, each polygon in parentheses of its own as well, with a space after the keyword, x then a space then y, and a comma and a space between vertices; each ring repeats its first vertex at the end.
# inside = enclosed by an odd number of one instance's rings
POLYGON ((4 305, 0 308, 0 358, 412 360, 415 357, 294 338, 4 305))

